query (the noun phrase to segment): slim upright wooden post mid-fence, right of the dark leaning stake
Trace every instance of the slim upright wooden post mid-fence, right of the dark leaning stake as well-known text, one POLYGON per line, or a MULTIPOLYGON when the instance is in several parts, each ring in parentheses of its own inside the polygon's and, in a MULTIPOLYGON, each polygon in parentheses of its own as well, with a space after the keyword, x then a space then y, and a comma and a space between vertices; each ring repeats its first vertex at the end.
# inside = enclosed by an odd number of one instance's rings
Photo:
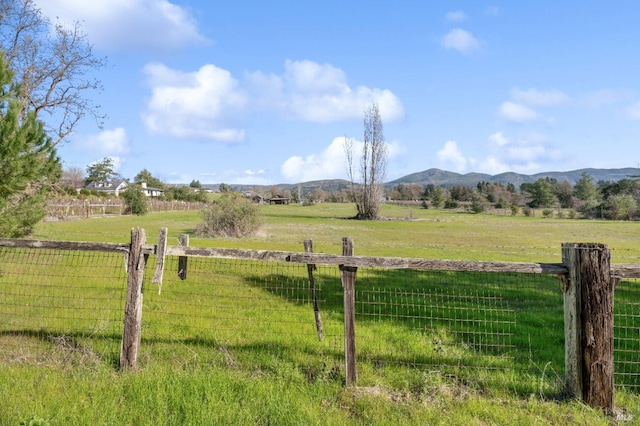
MULTIPOLYGON (((342 239, 342 255, 353 256, 353 240, 342 239)), ((356 373, 356 295, 355 283, 358 268, 340 265, 340 278, 344 291, 344 358, 347 385, 355 386, 356 373)))

